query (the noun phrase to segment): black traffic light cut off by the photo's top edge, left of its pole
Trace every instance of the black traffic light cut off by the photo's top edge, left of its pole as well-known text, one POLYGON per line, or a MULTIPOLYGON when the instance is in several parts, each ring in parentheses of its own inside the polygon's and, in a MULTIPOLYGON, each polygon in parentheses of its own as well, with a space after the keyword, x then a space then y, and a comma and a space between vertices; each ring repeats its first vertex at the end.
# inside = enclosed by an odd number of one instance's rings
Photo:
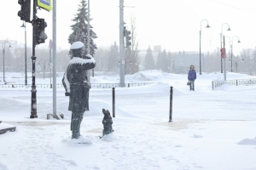
POLYGON ((18 3, 21 5, 18 16, 20 20, 30 21, 30 2, 31 0, 19 0, 18 3))

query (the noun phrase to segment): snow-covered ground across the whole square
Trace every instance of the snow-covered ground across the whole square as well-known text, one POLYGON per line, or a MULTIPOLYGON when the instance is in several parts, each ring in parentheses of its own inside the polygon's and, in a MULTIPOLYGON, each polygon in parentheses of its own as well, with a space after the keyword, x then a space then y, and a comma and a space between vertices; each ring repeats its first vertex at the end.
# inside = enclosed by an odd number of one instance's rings
MULTIPOLYGON (((23 77, 6 73, 9 82, 24 83, 23 77)), ((228 80, 247 78, 256 77, 227 73, 228 80)), ((126 76, 125 82, 155 83, 115 89, 114 132, 102 139, 102 108, 112 113, 112 89, 92 88, 81 125, 80 140, 88 144, 71 139, 64 89, 57 88, 57 112, 65 119, 47 120, 52 89, 37 88, 38 118, 30 119, 31 88, 0 88, 0 128, 16 127, 0 135, 0 170, 256 169, 256 86, 212 90, 212 80, 221 79, 221 73, 198 74, 195 91, 189 91, 187 75, 141 71, 126 76)), ((91 82, 119 82, 119 77, 96 76, 91 82)))

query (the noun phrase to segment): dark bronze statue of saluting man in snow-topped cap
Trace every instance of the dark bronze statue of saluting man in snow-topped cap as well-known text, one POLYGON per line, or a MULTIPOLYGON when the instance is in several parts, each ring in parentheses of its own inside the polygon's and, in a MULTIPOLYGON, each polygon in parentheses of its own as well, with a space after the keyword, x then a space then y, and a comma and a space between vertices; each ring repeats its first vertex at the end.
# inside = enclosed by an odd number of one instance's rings
POLYGON ((87 70, 93 69, 96 66, 96 61, 90 54, 84 55, 83 42, 74 42, 70 50, 72 59, 67 65, 62 84, 66 90, 65 95, 69 96, 68 111, 72 111, 72 139, 79 139, 84 111, 89 111, 90 83, 87 70))

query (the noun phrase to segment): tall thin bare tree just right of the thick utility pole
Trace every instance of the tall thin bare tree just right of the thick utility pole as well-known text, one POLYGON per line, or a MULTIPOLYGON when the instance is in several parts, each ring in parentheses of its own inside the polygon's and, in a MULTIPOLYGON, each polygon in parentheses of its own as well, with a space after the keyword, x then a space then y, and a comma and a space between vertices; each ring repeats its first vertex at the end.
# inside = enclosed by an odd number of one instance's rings
POLYGON ((125 49, 125 74, 134 74, 139 71, 140 57, 136 39, 136 18, 131 18, 131 46, 125 49))

